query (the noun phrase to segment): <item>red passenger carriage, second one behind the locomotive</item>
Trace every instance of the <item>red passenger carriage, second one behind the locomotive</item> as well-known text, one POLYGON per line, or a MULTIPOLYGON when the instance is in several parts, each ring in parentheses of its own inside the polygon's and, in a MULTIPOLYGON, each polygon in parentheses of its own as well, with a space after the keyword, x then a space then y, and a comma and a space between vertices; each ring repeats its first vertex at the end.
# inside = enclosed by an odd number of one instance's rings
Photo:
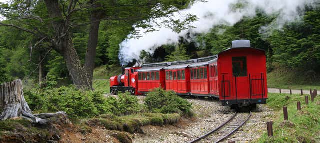
POLYGON ((194 60, 174 61, 165 67, 165 88, 177 94, 188 95, 190 93, 190 69, 189 65, 194 60))

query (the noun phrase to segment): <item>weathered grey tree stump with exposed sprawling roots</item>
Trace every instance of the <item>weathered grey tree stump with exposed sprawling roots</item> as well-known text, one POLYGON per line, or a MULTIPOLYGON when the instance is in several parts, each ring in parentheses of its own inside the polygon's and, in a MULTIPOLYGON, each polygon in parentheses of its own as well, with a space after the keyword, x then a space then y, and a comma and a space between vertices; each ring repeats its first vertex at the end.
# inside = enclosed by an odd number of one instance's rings
POLYGON ((55 117, 63 124, 71 124, 65 112, 32 114, 24 99, 21 79, 0 85, 0 120, 21 116, 33 123, 46 124, 49 118, 55 117))

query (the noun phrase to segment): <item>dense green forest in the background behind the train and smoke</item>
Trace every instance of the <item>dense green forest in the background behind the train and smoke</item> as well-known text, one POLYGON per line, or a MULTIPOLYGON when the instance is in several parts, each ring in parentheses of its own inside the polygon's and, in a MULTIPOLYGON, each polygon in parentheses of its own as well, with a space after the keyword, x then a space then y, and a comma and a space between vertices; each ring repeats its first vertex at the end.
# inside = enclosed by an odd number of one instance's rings
MULTIPOLYGON (((164 2, 168 1, 164 0, 164 2)), ((55 43, 52 40, 57 33, 54 31, 54 27, 47 26, 50 25, 49 23, 53 18, 50 17, 52 15, 48 15, 50 11, 47 11, 45 8, 45 5, 48 3, 42 0, 31 3, 31 5, 19 0, 13 0, 13 2, 15 3, 12 5, 1 5, 1 14, 6 19, 1 21, 2 26, 0 26, 0 82, 9 81, 14 78, 29 80, 29 82, 39 82, 45 80, 49 75, 60 79, 61 84, 72 84, 72 80, 74 82, 76 78, 68 70, 66 53, 59 50, 56 47, 57 45, 54 45, 55 43), (23 12, 23 17, 19 17, 23 12), (28 29, 32 31, 26 31, 28 29)), ((118 7, 113 8, 107 14, 121 10, 124 11, 124 9, 120 8, 121 4, 130 3, 125 3, 128 2, 125 0, 122 2, 113 3, 118 4, 118 7)), ((187 0, 177 0, 175 2, 173 4, 179 8, 185 8, 185 5, 189 3, 187 0)), ((101 3, 100 6, 108 7, 109 5, 106 3, 101 3)), ((67 5, 69 3, 65 2, 61 4, 67 5)), ((138 6, 144 3, 131 4, 138 6)), ((134 32, 134 26, 149 26, 143 23, 142 20, 173 12, 166 9, 167 13, 157 12, 152 13, 152 15, 148 13, 148 10, 152 8, 152 4, 154 6, 154 3, 151 3, 150 7, 139 10, 126 7, 125 10, 131 10, 131 12, 122 12, 121 15, 114 16, 114 18, 99 21, 98 33, 95 33, 95 38, 97 39, 94 41, 96 44, 96 58, 93 58, 94 63, 90 63, 93 64, 93 67, 105 64, 119 65, 119 44, 129 33, 134 32), (145 15, 139 15, 137 19, 128 18, 137 16, 140 13, 145 13, 145 15), (119 18, 118 16, 122 16, 123 18, 119 18)), ((166 4, 172 3, 168 2, 166 4)), ((80 6, 85 7, 87 5, 82 4, 80 6)), ((90 32, 92 30, 89 29, 92 29, 94 25, 90 24, 90 20, 92 20, 92 14, 97 12, 92 10, 92 7, 74 10, 75 12, 70 17, 65 16, 65 13, 60 11, 62 18, 70 18, 70 21, 72 21, 71 25, 79 24, 70 26, 67 36, 72 38, 72 44, 78 55, 81 67, 88 64, 88 57, 86 56, 89 53, 89 44, 92 44, 92 41, 90 41, 92 37, 92 33, 90 32)), ((107 16, 101 15, 102 18, 107 16)), ((283 28, 274 29, 268 33, 261 32, 261 27, 272 24, 276 16, 276 13, 267 15, 263 10, 260 10, 257 11, 256 16, 244 17, 235 25, 227 26, 221 24, 212 27, 207 33, 197 33, 195 37, 192 37, 192 40, 181 37, 177 44, 158 47, 153 55, 142 51, 140 58, 144 59, 144 62, 198 58, 217 54, 219 51, 230 47, 232 40, 248 39, 253 47, 266 51, 268 72, 277 68, 285 68, 307 73, 309 77, 318 77, 320 71, 320 8, 317 6, 306 7, 301 20, 286 23, 283 28)), ((195 19, 191 18, 192 20, 195 19)), ((128 66, 134 64, 133 62, 128 66)), ((92 69, 90 69, 90 72, 93 72, 92 69)))

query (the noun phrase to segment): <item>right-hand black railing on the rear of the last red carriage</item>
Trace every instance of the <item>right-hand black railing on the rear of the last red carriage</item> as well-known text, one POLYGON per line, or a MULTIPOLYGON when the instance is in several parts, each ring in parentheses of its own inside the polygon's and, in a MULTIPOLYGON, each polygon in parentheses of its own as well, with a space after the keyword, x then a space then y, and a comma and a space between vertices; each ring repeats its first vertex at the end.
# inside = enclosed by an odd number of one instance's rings
POLYGON ((252 96, 264 96, 264 76, 263 73, 252 75, 249 74, 250 98, 252 96))

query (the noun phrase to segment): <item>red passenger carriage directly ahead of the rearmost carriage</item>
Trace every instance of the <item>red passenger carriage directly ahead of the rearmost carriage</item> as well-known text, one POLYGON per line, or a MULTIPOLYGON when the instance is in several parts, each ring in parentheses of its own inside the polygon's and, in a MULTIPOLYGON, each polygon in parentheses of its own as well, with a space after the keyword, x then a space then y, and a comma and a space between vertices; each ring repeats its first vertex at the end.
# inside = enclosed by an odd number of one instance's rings
POLYGON ((208 56, 196 59, 197 63, 190 65, 191 95, 211 97, 208 78, 208 61, 216 56, 208 56))

